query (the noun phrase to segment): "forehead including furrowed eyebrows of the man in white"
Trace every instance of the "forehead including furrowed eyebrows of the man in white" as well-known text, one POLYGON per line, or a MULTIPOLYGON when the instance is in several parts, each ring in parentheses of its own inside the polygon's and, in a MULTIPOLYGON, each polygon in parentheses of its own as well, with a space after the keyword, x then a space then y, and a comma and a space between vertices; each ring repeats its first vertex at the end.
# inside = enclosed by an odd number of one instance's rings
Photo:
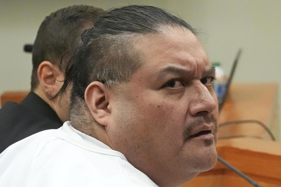
POLYGON ((168 72, 199 75, 211 69, 205 50, 190 30, 172 28, 160 34, 135 37, 133 45, 138 51, 141 63, 137 70, 139 73, 135 72, 132 76, 135 74, 152 78, 162 73, 167 75, 168 72))

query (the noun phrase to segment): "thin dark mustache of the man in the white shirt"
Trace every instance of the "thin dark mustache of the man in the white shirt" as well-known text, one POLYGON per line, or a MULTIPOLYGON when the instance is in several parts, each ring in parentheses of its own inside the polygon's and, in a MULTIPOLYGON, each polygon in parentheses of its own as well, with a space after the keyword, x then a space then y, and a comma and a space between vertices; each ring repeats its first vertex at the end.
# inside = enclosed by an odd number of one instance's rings
POLYGON ((219 130, 219 125, 216 120, 216 118, 213 115, 203 115, 203 116, 198 116, 195 121, 189 123, 188 127, 184 129, 184 137, 188 138, 191 135, 191 131, 193 128, 200 126, 201 124, 206 123, 210 124, 213 123, 215 125, 215 130, 213 134, 217 134, 219 130))

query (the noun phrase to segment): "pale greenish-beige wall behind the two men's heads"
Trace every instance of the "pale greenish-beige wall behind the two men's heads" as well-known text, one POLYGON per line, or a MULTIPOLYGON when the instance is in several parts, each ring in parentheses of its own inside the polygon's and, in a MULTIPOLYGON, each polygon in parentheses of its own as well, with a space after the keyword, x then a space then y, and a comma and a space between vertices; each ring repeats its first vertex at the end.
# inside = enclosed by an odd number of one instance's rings
POLYGON ((0 93, 30 89, 31 54, 23 52, 23 44, 34 41, 46 15, 73 4, 104 9, 124 4, 166 8, 206 33, 201 35, 201 41, 210 60, 221 61, 226 72, 238 48, 244 49, 234 82, 277 82, 281 87, 280 0, 32 0, 28 3, 0 0, 0 93))

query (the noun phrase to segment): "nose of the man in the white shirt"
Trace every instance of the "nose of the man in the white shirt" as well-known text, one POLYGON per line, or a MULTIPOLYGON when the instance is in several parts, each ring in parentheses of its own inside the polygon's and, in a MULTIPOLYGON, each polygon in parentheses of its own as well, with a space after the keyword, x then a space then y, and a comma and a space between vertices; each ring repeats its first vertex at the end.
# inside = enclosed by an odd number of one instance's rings
POLYGON ((193 96, 189 105, 191 116, 207 115, 218 108, 217 97, 213 88, 208 89, 200 81, 193 85, 193 96))

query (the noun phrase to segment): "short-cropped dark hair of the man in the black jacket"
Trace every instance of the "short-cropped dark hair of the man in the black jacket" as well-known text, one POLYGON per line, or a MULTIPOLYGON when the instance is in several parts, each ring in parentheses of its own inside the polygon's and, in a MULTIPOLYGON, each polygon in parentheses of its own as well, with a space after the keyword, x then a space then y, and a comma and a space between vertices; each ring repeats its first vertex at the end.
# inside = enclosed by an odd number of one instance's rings
POLYGON ((49 61, 65 70, 80 34, 94 24, 104 10, 93 6, 74 5, 51 13, 41 23, 32 49, 31 90, 39 84, 37 69, 41 62, 49 61))

